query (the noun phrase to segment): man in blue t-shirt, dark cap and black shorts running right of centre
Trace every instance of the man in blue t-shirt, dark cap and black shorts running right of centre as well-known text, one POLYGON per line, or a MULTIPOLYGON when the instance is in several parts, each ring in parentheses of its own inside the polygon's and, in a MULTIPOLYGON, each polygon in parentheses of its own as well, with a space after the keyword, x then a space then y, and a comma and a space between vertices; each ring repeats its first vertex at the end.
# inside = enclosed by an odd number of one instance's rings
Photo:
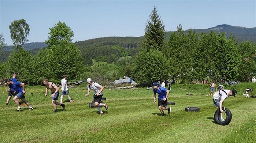
POLYGON ((158 93, 158 108, 165 116, 165 113, 163 110, 168 110, 168 114, 171 113, 171 107, 166 107, 167 106, 167 98, 169 95, 169 90, 167 90, 164 87, 158 86, 157 82, 153 83, 153 91, 154 91, 154 103, 156 103, 156 93, 158 93))

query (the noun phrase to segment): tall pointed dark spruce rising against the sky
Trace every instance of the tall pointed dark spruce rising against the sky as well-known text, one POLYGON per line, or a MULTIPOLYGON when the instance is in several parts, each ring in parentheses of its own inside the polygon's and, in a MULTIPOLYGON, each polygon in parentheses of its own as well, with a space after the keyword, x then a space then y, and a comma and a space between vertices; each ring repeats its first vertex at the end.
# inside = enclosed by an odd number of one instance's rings
POLYGON ((144 30, 145 40, 143 40, 143 48, 147 49, 147 51, 149 51, 149 49, 161 50, 166 32, 165 25, 163 25, 155 6, 149 17, 150 19, 147 20, 144 30))

